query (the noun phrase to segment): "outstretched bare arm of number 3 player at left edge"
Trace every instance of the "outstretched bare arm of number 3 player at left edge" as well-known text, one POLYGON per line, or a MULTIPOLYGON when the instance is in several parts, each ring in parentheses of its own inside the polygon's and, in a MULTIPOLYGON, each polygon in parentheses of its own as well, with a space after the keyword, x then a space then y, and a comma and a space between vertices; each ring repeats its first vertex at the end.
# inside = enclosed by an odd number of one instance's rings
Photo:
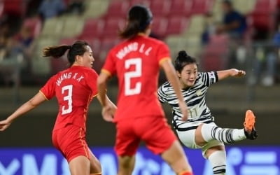
POLYGON ((41 92, 38 92, 34 97, 29 99, 29 101, 22 104, 14 113, 12 113, 6 120, 0 121, 0 131, 6 130, 13 121, 22 116, 23 114, 31 111, 32 109, 36 108, 39 104, 44 102, 46 99, 41 92))

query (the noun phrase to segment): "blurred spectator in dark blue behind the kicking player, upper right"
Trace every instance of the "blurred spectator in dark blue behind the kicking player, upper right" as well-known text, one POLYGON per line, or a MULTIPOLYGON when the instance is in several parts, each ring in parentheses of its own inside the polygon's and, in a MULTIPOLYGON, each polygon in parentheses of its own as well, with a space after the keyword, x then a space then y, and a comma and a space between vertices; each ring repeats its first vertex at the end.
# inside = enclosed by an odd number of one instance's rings
POLYGON ((224 11, 223 24, 218 29, 227 32, 232 38, 241 38, 247 28, 246 18, 233 8, 232 2, 229 0, 222 2, 222 8, 224 11))

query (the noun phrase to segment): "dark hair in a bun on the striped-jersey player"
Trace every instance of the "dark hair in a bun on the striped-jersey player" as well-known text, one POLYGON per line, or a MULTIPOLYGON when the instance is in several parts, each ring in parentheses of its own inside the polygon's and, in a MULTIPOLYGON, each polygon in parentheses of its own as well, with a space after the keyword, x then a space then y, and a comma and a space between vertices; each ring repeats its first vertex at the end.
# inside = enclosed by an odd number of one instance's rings
POLYGON ((181 50, 175 60, 176 71, 179 71, 179 73, 181 73, 183 67, 187 64, 197 64, 197 61, 195 60, 195 58, 190 57, 190 55, 188 55, 185 50, 181 50))

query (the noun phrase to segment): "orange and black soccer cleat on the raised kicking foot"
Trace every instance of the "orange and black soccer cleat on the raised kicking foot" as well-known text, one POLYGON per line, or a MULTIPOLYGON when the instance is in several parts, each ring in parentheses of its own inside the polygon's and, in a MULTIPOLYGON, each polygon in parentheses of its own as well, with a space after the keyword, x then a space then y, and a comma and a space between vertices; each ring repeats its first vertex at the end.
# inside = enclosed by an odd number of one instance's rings
POLYGON ((257 131, 255 130, 255 115, 251 110, 246 111, 244 132, 247 139, 254 140, 258 137, 257 131))

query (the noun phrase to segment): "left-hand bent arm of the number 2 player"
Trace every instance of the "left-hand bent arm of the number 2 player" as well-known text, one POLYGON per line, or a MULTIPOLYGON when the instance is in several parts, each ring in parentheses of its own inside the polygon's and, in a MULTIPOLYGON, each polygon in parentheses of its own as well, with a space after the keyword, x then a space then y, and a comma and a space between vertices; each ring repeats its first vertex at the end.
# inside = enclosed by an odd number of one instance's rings
POLYGON ((102 71, 97 78, 97 99, 102 105, 102 116, 104 120, 108 122, 113 121, 113 115, 117 109, 116 105, 113 104, 113 102, 111 102, 109 97, 106 95, 107 81, 109 80, 110 76, 111 75, 106 71, 102 71))

